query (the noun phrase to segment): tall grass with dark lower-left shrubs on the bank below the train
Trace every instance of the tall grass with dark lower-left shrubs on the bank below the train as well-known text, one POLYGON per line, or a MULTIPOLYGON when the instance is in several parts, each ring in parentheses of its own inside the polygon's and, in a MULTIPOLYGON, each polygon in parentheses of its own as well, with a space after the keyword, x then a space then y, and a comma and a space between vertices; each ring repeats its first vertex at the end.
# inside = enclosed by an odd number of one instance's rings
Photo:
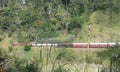
POLYGON ((97 72, 100 64, 95 63, 98 59, 96 51, 98 50, 91 50, 87 54, 87 49, 54 47, 32 47, 31 51, 24 51, 24 47, 14 47, 12 51, 6 51, 4 70, 5 72, 9 69, 12 72, 31 72, 34 69, 34 72, 97 72))

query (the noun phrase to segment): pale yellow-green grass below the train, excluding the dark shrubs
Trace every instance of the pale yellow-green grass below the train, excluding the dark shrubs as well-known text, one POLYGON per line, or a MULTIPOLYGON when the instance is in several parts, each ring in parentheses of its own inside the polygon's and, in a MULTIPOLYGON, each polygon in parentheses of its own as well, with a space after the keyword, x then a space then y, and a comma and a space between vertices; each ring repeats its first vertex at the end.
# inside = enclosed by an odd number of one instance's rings
MULTIPOLYGON (((40 67, 42 66, 42 72, 53 72, 52 67, 55 64, 54 70, 59 68, 61 65, 62 68, 65 68, 66 70, 69 70, 69 72, 97 72, 99 65, 99 59, 96 57, 96 51, 92 51, 89 53, 89 59, 91 60, 91 63, 85 63, 85 55, 86 55, 86 49, 54 49, 52 48, 38 48, 33 47, 31 51, 25 52, 23 47, 15 47, 13 51, 8 52, 10 57, 15 57, 17 62, 21 62, 19 64, 20 67, 25 67, 26 64, 30 63, 36 63, 40 67), (77 52, 76 52, 77 50, 77 52), (42 55, 40 56, 40 51, 42 52, 42 55), (47 53, 49 53, 49 56, 47 56, 47 53), (63 56, 61 56, 62 54, 63 56), (74 57, 72 57, 74 56, 74 57), (42 61, 41 61, 42 58, 42 61), (56 61, 55 61, 56 60, 56 61), (97 64, 94 64, 93 62, 97 61, 97 64), (48 62, 48 64, 47 64, 48 62), (43 65, 41 65, 41 63, 43 65), (67 63, 67 64, 66 64, 67 63), (60 66, 59 66, 60 65, 60 66)), ((7 65, 8 63, 6 63, 7 65)), ((7 66, 5 65, 5 69, 7 69, 7 66)), ((9 65, 8 65, 9 66, 9 65)), ((14 66, 13 66, 14 67, 14 66)), ((38 69, 40 69, 40 67, 38 69)))

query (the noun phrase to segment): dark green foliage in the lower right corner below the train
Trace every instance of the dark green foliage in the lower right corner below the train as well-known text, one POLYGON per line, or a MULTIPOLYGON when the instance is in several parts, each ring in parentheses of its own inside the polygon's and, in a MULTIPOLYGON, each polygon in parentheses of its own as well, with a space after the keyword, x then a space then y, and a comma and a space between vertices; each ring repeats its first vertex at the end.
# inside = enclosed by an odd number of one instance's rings
MULTIPOLYGON (((102 52, 98 53, 98 56, 101 57, 102 61, 108 60, 110 62, 110 67, 114 65, 118 71, 120 70, 120 45, 116 45, 115 47, 109 47, 108 50, 104 50, 102 52)), ((113 70, 113 67, 111 67, 111 70, 113 70)))

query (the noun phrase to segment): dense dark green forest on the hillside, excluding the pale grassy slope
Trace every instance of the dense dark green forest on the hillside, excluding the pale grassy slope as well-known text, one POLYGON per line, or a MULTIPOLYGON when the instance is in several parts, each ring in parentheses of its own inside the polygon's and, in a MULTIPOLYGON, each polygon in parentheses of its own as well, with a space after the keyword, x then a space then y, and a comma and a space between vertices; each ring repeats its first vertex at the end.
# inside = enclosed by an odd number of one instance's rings
POLYGON ((21 42, 58 37, 61 32, 76 35, 89 24, 92 13, 110 16, 119 9, 119 0, 0 0, 0 34, 17 34, 21 42))

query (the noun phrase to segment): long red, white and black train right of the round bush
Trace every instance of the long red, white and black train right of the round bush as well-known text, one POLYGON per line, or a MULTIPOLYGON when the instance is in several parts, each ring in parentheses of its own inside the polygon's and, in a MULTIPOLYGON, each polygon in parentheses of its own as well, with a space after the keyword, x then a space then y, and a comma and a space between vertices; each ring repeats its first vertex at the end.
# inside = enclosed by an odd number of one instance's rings
POLYGON ((108 48, 120 45, 120 43, 33 43, 33 47, 66 47, 66 48, 108 48))

